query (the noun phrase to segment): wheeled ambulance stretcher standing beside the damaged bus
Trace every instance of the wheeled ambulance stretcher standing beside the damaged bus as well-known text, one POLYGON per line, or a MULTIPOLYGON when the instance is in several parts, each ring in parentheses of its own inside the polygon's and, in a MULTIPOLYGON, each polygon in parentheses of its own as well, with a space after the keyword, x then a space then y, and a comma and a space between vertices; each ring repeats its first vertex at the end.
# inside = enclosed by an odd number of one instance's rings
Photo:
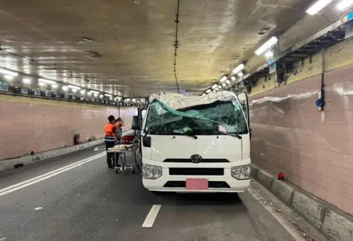
POLYGON ((140 148, 139 142, 134 144, 117 144, 114 147, 108 148, 109 153, 114 153, 114 172, 120 173, 125 170, 130 170, 136 173, 140 170, 140 165, 137 160, 136 151, 140 148), (127 161, 127 154, 131 154, 131 161, 127 161))

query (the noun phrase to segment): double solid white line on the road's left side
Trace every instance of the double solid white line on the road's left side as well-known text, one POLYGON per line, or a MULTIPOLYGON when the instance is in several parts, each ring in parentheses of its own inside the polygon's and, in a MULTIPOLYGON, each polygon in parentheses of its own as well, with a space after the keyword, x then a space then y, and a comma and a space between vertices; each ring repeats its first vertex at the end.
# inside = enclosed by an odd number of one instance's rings
POLYGON ((33 177, 31 179, 28 179, 26 181, 23 181, 23 182, 20 182, 20 183, 17 183, 15 185, 12 185, 12 186, 9 186, 7 188, 4 188, 4 189, 0 189, 0 196, 3 196, 5 194, 8 194, 10 192, 13 192, 13 191, 16 191, 18 189, 22 189, 22 188, 25 188, 25 187, 28 187, 34 183, 37 183, 37 182, 40 182, 40 181, 43 181, 45 179, 48 179, 52 176, 55 176, 57 174, 60 174, 62 172, 66 172, 70 169, 73 169, 75 167, 78 167, 84 163, 87 163, 87 162, 90 162, 90 161, 93 161, 99 157, 102 157, 106 155, 106 152, 103 152, 103 153, 100 153, 100 154, 97 154, 97 155, 94 155, 94 156, 91 156, 91 157, 88 157, 88 158, 85 158, 83 160, 80 160, 80 161, 77 161, 75 163, 72 163, 70 165, 67 165, 67 166, 64 166, 62 168, 59 168, 59 169, 56 169, 54 171, 51 171, 51 172, 47 172, 45 174, 42 174, 40 176, 36 176, 36 177, 33 177))

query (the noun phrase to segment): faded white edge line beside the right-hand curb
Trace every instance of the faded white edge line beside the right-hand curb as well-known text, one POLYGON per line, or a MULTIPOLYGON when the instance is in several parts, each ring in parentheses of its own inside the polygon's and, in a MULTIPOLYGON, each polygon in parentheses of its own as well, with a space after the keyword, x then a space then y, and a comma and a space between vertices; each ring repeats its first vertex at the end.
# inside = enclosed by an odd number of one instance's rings
POLYGON ((276 211, 273 211, 273 209, 270 206, 267 206, 261 202, 261 200, 264 198, 260 194, 258 194, 258 192, 255 189, 250 187, 248 188, 248 191, 251 195, 255 197, 257 201, 259 201, 259 203, 263 207, 266 208, 267 211, 269 211, 272 214, 272 216, 278 221, 278 223, 281 224, 289 232, 289 234, 294 238, 295 241, 306 241, 306 239, 298 232, 297 229, 287 224, 286 219, 281 214, 279 214, 276 211))

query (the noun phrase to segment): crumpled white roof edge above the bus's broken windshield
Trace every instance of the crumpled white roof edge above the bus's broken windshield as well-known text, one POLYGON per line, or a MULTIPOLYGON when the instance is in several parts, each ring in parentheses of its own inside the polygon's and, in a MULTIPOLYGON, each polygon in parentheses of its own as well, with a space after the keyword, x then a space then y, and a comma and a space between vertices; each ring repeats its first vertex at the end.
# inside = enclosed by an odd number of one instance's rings
POLYGON ((215 101, 238 100, 238 98, 234 92, 222 90, 203 96, 184 96, 173 92, 159 92, 149 97, 150 103, 153 100, 159 100, 170 108, 177 110, 189 106, 209 104, 215 101))

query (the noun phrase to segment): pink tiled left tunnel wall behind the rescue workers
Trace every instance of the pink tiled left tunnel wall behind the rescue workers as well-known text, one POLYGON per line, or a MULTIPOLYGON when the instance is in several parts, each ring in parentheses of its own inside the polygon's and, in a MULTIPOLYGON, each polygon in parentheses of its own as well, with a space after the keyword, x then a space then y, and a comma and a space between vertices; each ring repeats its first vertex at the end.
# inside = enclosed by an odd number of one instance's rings
POLYGON ((74 133, 81 134, 81 141, 102 138, 109 115, 120 116, 129 129, 136 111, 0 95, 0 160, 73 145, 74 133))

